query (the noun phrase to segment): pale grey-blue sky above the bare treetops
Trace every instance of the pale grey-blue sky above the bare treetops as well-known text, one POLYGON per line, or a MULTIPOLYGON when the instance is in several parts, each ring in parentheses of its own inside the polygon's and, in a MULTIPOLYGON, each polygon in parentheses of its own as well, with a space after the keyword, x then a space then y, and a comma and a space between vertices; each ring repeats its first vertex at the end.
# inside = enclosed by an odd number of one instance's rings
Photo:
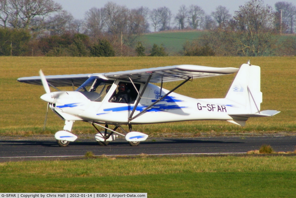
MULTIPOLYGON (((102 8, 110 0, 54 0, 55 2, 62 5, 64 10, 70 12, 75 19, 84 19, 84 13, 91 9, 92 7, 102 8)), ((265 0, 265 4, 268 4, 274 8, 274 4, 278 1, 285 1, 293 3, 295 6, 295 0, 265 0)), ((129 9, 139 8, 141 6, 148 7, 149 9, 155 9, 158 7, 168 7, 172 12, 172 15, 178 13, 179 7, 184 4, 186 7, 190 5, 200 6, 207 15, 215 11, 216 7, 219 5, 225 6, 231 15, 234 11, 239 9, 240 5, 244 5, 244 0, 112 0, 118 5, 125 5, 129 9)))

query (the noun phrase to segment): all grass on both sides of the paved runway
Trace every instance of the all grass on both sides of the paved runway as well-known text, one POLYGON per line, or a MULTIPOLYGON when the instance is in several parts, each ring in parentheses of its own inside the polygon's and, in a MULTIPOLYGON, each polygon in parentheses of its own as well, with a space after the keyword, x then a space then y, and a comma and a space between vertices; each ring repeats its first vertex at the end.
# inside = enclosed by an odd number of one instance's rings
MULTIPOLYGON (((99 73, 166 65, 239 67, 250 59, 261 66, 261 109, 280 114, 251 118, 246 127, 226 121, 192 121, 134 126, 151 137, 166 133, 270 133, 296 131, 296 57, 0 57, 0 136, 54 134, 64 121, 49 112, 42 86, 17 78, 38 75, 99 73)), ((195 79, 176 92, 195 98, 224 97, 235 75, 195 79)), ((166 83, 171 88, 175 83, 166 83)), ((73 133, 94 133, 76 122, 73 133)), ((1 149, 1 147, 0 147, 1 149)), ((1 151, 1 150, 0 150, 1 151)), ((0 163, 0 192, 147 192, 149 197, 294 197, 295 156, 100 157, 67 161, 0 163)))

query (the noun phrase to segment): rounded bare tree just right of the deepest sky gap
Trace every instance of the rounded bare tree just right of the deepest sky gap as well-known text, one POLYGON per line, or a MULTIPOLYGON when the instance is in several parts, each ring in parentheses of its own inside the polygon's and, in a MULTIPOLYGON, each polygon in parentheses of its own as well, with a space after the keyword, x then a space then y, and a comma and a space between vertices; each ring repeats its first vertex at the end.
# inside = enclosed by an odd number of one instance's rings
POLYGON ((92 37, 99 36, 105 27, 105 9, 92 7, 85 12, 84 21, 85 33, 92 37))

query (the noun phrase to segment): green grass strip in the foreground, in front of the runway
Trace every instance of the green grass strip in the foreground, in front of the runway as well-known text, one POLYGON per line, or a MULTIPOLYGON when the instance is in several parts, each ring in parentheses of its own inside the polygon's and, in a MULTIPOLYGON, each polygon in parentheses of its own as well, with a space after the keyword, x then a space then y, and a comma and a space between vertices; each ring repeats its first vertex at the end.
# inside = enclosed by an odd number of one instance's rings
POLYGON ((147 192, 149 197, 293 197, 295 156, 101 157, 0 163, 0 192, 147 192))

